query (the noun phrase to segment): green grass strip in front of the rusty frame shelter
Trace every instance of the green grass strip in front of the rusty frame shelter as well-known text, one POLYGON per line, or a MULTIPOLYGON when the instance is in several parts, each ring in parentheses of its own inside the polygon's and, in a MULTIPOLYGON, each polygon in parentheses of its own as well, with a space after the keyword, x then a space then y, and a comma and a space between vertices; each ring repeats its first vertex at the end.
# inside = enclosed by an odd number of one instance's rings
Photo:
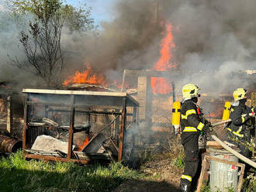
POLYGON ((0 191, 112 191, 124 180, 144 174, 121 163, 79 166, 74 163, 22 159, 22 151, 0 159, 0 191))

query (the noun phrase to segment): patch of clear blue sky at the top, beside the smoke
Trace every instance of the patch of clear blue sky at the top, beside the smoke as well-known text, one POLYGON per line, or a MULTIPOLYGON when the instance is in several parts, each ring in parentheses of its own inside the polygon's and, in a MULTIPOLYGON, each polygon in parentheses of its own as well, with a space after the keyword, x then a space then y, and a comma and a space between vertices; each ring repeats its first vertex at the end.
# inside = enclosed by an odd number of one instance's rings
POLYGON ((113 19, 112 5, 117 0, 66 0, 67 4, 74 6, 86 3, 86 5, 92 7, 92 18, 99 24, 103 21, 109 21, 113 19))

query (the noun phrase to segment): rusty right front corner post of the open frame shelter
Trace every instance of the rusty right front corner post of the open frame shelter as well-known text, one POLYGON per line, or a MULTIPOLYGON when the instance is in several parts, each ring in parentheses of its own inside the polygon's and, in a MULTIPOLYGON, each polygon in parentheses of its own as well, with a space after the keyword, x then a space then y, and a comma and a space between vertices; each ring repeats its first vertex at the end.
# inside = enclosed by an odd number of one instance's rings
POLYGON ((123 98, 122 124, 120 127, 120 135, 119 135, 118 161, 121 161, 123 157, 123 138, 124 138, 125 127, 126 127, 126 98, 123 98))

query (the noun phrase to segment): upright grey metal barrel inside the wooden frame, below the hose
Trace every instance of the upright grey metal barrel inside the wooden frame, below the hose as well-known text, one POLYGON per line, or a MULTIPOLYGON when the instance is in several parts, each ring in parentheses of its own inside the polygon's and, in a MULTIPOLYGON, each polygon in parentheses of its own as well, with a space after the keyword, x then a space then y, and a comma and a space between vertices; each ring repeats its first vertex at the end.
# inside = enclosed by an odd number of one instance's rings
MULTIPOLYGON (((209 155, 218 159, 238 162, 238 158, 225 149, 209 148, 209 155)), ((210 190, 227 192, 230 188, 237 190, 238 182, 238 167, 220 163, 217 161, 210 161, 210 190)))

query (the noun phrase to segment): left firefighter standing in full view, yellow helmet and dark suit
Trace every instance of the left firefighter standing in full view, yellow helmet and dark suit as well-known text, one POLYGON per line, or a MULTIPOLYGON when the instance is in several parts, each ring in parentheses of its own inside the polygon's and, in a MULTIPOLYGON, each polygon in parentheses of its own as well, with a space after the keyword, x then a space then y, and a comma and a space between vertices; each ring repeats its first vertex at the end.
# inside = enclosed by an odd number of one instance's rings
POLYGON ((192 181, 195 182, 195 173, 199 166, 199 135, 210 129, 210 124, 202 117, 199 105, 197 105, 200 94, 199 87, 195 84, 185 84, 182 87, 182 146, 185 152, 185 168, 182 174, 180 189, 189 192, 192 181), (194 180, 193 180, 194 179, 194 180))

